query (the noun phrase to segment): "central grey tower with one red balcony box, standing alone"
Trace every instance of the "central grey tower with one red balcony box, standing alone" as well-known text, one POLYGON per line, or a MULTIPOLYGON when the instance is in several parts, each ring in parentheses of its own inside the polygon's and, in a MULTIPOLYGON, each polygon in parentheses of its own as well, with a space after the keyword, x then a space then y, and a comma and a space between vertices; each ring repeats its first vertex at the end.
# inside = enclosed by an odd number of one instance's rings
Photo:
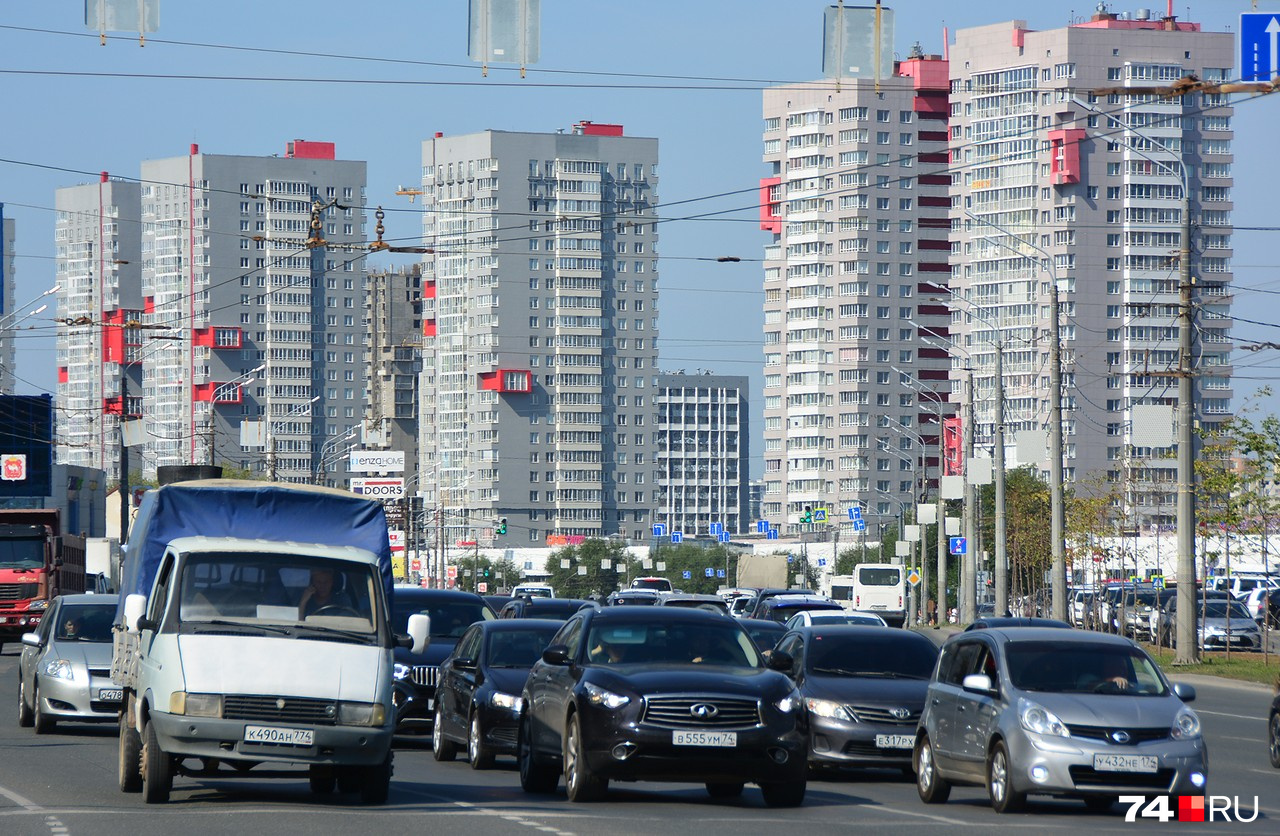
POLYGON ((657 164, 589 122, 422 143, 420 484, 447 543, 646 536, 657 164))

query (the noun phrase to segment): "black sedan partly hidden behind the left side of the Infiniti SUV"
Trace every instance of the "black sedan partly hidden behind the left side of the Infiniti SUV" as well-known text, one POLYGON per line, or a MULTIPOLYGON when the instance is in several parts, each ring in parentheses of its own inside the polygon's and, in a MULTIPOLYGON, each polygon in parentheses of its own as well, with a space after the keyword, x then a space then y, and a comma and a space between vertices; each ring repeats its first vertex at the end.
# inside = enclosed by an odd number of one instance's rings
POLYGON ((563 621, 508 618, 471 625, 440 664, 431 750, 452 760, 462 745, 472 769, 516 754, 520 691, 563 621))

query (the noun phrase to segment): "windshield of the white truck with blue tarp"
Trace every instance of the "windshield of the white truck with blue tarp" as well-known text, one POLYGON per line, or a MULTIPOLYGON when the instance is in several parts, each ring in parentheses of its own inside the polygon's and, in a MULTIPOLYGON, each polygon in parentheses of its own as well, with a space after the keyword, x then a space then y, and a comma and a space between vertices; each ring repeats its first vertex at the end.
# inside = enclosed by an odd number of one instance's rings
POLYGON ((182 572, 182 622, 302 625, 376 632, 374 567, 306 554, 195 554, 182 572))

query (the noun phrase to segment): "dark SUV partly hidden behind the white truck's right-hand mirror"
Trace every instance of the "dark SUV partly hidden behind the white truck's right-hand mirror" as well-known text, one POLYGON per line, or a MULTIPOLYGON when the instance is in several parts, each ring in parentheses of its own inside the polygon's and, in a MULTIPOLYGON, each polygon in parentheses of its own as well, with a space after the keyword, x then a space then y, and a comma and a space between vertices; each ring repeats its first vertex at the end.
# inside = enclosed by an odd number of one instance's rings
POLYGON ((489 604, 475 593, 397 586, 392 599, 392 626, 396 631, 407 632, 408 617, 419 612, 431 618, 431 641, 417 655, 410 653, 408 648, 396 648, 392 703, 396 707, 397 731, 431 726, 435 719, 435 682, 440 662, 453 652, 467 627, 476 621, 497 618, 489 604))

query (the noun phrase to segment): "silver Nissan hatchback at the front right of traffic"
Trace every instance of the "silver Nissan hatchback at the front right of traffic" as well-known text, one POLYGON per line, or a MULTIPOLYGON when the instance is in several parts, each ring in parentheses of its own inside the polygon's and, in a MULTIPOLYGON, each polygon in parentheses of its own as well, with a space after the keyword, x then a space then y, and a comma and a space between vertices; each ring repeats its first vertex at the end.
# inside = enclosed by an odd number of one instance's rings
POLYGON ((986 786, 1005 813, 1028 795, 1105 810, 1121 794, 1202 795, 1201 722, 1142 648, 1121 636, 1041 627, 963 632, 929 682, 913 766, 925 804, 986 786))

